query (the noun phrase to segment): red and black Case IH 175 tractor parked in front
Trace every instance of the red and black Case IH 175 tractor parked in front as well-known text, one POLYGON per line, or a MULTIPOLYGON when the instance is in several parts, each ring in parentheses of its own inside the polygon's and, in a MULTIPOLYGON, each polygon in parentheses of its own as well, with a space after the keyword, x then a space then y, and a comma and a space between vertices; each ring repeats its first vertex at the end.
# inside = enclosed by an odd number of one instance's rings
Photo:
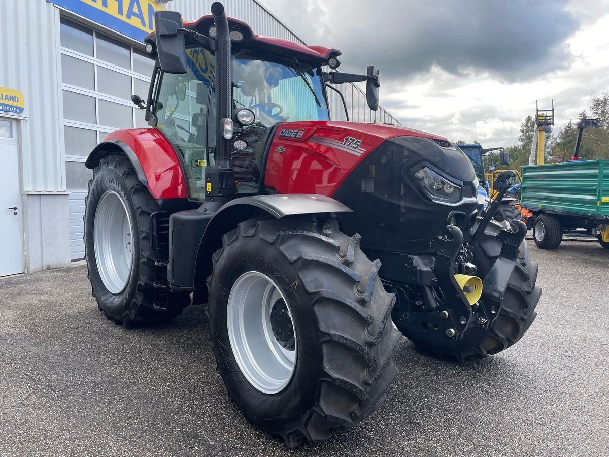
POLYGON ((374 66, 325 71, 337 49, 211 12, 157 12, 150 128, 110 133, 86 161, 86 261, 105 316, 131 326, 206 304, 228 395, 290 447, 373 413, 402 335, 458 361, 518 341, 537 264, 524 224, 491 220, 502 194, 477 215, 463 152, 331 121, 329 83, 365 81, 378 108, 374 66))

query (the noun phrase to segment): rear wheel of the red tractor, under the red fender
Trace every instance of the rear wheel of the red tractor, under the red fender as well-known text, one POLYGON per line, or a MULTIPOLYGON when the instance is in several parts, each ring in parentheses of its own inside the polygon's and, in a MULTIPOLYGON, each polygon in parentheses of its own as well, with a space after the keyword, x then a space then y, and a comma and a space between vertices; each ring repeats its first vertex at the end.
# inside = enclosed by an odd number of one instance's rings
POLYGON ((185 292, 171 308, 155 302, 155 263, 150 214, 157 201, 142 185, 126 157, 100 160, 85 198, 85 259, 99 309, 115 324, 132 326, 169 319, 189 304, 185 292))

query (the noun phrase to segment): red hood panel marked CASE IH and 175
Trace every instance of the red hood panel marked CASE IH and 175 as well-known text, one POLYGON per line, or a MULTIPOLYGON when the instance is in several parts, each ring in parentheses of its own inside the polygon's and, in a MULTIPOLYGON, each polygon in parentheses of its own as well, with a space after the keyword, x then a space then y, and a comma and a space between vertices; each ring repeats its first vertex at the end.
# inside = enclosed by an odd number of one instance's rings
POLYGON ((280 194, 332 196, 350 171, 396 136, 443 136, 382 124, 310 121, 281 124, 269 149, 264 184, 280 194))

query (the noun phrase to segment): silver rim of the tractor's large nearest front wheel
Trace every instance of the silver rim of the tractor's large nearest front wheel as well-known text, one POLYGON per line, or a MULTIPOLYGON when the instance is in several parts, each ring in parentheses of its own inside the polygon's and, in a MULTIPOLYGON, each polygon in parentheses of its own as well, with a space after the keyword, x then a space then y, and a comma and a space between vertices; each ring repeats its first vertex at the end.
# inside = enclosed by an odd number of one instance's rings
POLYGON ((286 297, 271 278, 249 271, 236 280, 228 296, 227 327, 234 358, 249 383, 265 394, 282 391, 294 375, 297 331, 286 297))

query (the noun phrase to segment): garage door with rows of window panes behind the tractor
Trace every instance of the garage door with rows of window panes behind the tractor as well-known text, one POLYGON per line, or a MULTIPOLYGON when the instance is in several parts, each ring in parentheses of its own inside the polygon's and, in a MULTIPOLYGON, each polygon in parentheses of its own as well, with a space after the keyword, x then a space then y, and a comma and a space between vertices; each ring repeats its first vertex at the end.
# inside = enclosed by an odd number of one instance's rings
POLYGON ((93 172, 86 157, 112 130, 146 127, 132 94, 146 98, 154 66, 141 49, 61 19, 63 125, 72 260, 85 255, 85 196, 93 172))

